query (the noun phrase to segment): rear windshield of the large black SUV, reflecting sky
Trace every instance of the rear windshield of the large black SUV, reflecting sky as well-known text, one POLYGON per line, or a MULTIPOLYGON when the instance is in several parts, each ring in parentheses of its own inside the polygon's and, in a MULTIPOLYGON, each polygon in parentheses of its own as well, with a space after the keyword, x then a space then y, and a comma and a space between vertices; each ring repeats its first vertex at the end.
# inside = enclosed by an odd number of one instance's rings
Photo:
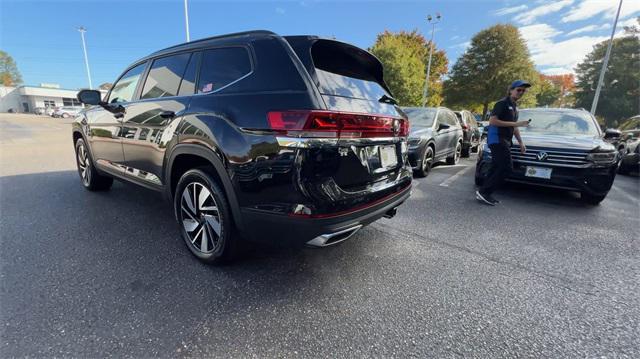
POLYGON ((311 47, 320 93, 378 100, 390 95, 382 80, 382 65, 373 55, 355 46, 318 40, 311 47))

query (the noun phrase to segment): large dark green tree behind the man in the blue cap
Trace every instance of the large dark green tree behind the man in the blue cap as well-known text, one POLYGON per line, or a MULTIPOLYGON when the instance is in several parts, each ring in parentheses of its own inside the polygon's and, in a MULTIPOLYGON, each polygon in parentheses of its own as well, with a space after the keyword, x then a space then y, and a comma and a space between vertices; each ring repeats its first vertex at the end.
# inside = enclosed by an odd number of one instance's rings
POLYGON ((477 33, 453 65, 444 82, 445 103, 468 108, 481 105, 484 116, 489 105, 506 96, 509 84, 517 79, 533 85, 520 100, 520 106, 535 106, 538 74, 527 46, 515 26, 495 25, 477 33))

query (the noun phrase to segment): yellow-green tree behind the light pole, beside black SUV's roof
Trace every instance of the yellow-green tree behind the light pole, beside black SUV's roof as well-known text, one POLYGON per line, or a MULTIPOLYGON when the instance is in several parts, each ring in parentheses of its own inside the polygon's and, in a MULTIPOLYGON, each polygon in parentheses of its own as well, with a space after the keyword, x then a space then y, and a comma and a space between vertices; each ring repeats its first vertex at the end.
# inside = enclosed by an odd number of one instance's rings
MULTIPOLYGON (((384 66, 384 79, 394 96, 403 106, 421 106, 426 77, 429 43, 418 33, 385 31, 379 34, 369 49, 384 66)), ((442 103, 442 76, 447 72, 445 52, 434 47, 429 76, 427 104, 442 103)))

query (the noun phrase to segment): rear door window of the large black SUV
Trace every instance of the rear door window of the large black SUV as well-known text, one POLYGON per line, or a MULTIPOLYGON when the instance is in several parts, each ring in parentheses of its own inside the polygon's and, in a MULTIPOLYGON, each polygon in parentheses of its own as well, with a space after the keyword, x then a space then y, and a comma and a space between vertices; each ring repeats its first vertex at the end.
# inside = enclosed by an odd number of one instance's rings
POLYGON ((187 53, 154 60, 140 98, 176 96, 190 56, 187 53))

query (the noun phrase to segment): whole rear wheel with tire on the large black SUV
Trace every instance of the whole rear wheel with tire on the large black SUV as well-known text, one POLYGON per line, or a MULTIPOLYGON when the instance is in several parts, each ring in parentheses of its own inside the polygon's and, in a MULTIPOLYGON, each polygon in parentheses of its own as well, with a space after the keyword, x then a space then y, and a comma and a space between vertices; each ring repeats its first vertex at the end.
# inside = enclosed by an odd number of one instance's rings
POLYGON ((185 172, 173 204, 182 239, 191 253, 207 264, 223 264, 235 258, 238 238, 226 195, 208 171, 185 172))

